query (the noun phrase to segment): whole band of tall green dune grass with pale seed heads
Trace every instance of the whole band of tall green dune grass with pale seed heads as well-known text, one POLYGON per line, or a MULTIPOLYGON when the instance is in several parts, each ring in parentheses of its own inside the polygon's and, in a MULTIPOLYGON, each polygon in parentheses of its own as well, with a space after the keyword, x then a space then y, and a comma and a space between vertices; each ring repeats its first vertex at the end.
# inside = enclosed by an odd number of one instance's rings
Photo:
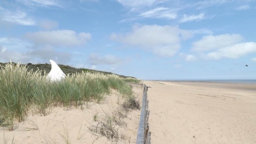
POLYGON ((28 71, 24 64, 0 66, 0 126, 13 130, 30 110, 47 115, 50 107, 99 103, 111 88, 122 95, 132 94, 126 80, 116 75, 82 72, 59 82, 49 82, 46 77, 41 71, 28 71))

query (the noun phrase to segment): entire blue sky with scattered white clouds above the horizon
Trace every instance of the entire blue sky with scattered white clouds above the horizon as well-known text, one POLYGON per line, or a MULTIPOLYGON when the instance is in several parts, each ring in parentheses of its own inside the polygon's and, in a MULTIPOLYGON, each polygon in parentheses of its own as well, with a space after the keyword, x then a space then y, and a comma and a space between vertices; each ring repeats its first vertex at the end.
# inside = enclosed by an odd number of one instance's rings
POLYGON ((0 62, 50 59, 142 80, 256 79, 256 0, 0 0, 0 62))

